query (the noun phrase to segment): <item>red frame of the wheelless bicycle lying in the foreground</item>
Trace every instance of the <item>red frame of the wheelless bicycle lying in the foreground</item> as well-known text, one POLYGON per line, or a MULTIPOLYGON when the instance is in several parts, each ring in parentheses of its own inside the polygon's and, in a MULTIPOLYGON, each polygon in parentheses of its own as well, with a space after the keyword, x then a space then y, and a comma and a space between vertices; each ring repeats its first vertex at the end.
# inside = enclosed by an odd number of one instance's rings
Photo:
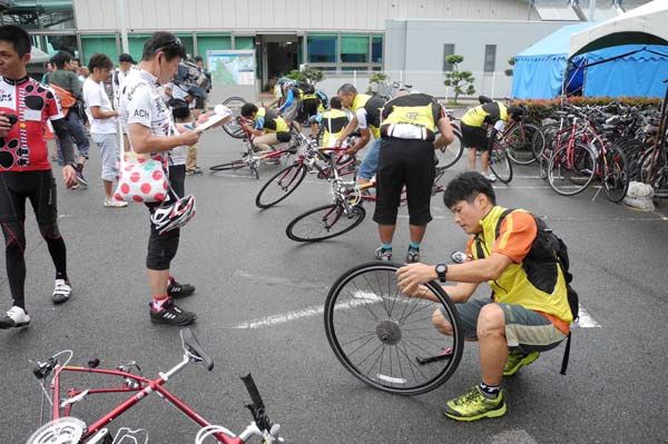
MULTIPOLYGON (((181 369, 184 369, 190 363, 190 358, 188 355, 184 355, 183 361, 177 364, 175 367, 169 369, 166 373, 160 373, 159 376, 155 379, 149 379, 140 375, 136 375, 129 372, 119 371, 119 369, 104 369, 104 368, 87 368, 87 367, 76 367, 76 366, 60 366, 57 365, 55 367, 53 378, 50 384, 51 399, 53 399, 53 406, 51 412, 51 418, 58 420, 60 417, 70 416, 71 410, 73 405, 80 401, 82 401, 88 395, 96 394, 109 394, 109 393, 134 393, 126 401, 118 404, 114 410, 102 417, 95 421, 90 424, 81 440, 81 442, 86 442, 86 440, 92 437, 96 433, 98 433, 106 425, 111 423, 118 416, 130 410, 135 404, 139 403, 141 399, 146 398, 151 393, 156 392, 160 397, 167 401, 169 404, 174 405, 178 408, 184 415, 189 417, 196 424, 202 427, 206 427, 212 425, 207 420, 205 420, 202 415, 190 408, 184 401, 171 394, 169 391, 164 388, 163 386, 169 381, 169 378, 181 369), (67 392, 68 398, 60 403, 61 396, 61 381, 60 375, 63 372, 71 373, 88 373, 88 374, 100 374, 107 376, 117 376, 124 378, 126 383, 124 387, 117 388, 94 388, 87 391, 78 391, 78 389, 69 389, 67 392), (128 384, 128 382, 134 382, 135 384, 128 384), (62 412, 61 412, 62 411, 62 412)), ((255 423, 252 423, 246 430, 238 435, 237 437, 230 437, 223 433, 215 433, 213 436, 218 440, 218 442, 223 444, 244 444, 246 440, 250 436, 262 434, 255 423)))

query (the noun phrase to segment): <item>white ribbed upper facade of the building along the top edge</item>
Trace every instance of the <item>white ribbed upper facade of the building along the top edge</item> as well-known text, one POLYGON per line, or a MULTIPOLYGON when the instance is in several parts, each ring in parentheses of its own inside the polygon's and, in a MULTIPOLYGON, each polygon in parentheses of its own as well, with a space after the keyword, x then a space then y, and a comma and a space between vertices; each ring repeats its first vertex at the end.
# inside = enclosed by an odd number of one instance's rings
MULTIPOLYGON (((119 28, 117 0, 73 0, 80 31, 119 28)), ((382 31, 391 19, 520 20, 524 0, 125 0, 128 30, 382 31)), ((538 14, 532 13, 538 19, 538 14)))

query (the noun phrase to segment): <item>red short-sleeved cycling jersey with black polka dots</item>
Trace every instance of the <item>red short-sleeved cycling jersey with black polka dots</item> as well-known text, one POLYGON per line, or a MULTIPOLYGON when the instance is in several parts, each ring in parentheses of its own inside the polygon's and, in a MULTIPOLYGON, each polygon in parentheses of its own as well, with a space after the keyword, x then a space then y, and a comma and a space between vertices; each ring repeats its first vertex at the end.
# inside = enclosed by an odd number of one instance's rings
POLYGON ((0 77, 0 114, 19 119, 7 138, 0 138, 0 172, 51 169, 45 140, 47 120, 63 118, 56 95, 29 77, 0 77))

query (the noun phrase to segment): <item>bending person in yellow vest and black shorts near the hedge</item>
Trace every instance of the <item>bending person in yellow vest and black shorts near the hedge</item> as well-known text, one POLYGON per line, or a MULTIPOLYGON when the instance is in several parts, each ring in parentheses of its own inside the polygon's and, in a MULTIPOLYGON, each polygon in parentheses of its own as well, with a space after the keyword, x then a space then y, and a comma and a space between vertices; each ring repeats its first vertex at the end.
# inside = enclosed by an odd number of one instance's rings
MULTIPOLYGON (((483 97, 483 96, 481 96, 483 97)), ((485 98, 487 99, 487 98, 485 98)), ((481 100, 482 101, 482 100, 481 100)), ((507 107, 501 101, 490 101, 469 109, 461 119, 462 145, 469 149, 469 170, 475 170, 475 157, 481 151, 480 167, 482 174, 490 180, 497 177, 489 172, 490 151, 497 138, 510 119, 520 120, 524 109, 518 106, 507 107), (491 125, 492 131, 488 137, 487 125, 491 125)))

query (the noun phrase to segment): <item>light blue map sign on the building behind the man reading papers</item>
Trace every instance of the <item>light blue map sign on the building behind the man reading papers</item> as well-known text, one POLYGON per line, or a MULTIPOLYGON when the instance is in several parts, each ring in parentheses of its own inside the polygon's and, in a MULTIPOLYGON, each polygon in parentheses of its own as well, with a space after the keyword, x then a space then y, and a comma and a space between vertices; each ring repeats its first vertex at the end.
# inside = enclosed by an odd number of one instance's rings
POLYGON ((214 83, 255 85, 255 51, 206 51, 214 83))

